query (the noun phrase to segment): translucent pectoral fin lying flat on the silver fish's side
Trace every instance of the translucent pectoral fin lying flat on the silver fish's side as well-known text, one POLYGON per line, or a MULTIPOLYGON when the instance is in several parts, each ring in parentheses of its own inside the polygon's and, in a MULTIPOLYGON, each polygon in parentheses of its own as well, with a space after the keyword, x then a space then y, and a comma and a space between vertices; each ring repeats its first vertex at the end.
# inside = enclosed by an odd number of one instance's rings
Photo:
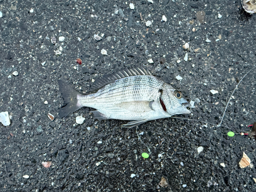
MULTIPOLYGON (((135 113, 145 113, 152 111, 152 103, 154 101, 128 101, 115 104, 119 108, 135 113)), ((154 110, 153 110, 154 111, 154 110)))

